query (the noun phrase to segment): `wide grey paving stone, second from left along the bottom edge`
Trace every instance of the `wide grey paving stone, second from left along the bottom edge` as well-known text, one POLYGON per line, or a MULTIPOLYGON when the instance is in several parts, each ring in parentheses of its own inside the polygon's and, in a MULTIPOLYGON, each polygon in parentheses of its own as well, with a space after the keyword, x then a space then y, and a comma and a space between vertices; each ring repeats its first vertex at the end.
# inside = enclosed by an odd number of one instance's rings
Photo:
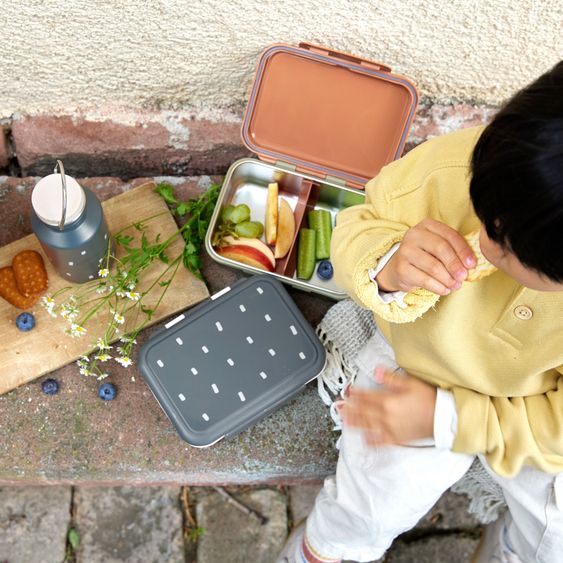
POLYGON ((179 487, 84 487, 75 492, 78 563, 183 563, 179 487))

